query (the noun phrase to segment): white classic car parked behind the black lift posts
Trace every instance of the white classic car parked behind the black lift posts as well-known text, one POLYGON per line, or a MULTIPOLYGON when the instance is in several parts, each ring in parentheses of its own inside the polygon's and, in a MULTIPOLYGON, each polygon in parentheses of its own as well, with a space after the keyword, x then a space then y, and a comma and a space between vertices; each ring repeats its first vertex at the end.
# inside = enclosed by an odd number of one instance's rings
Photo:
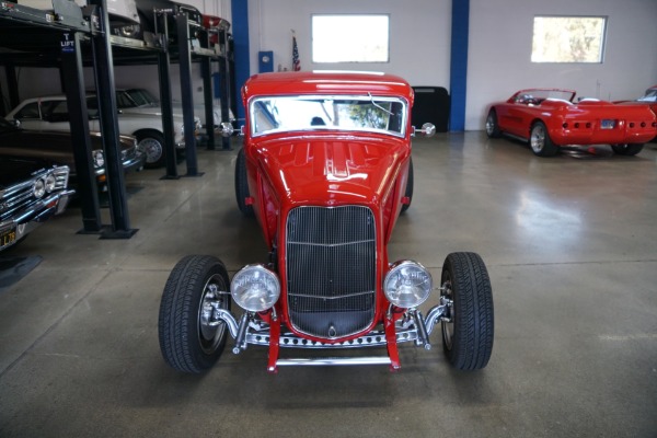
MULTIPOLYGON (((100 130, 97 99, 87 96, 89 110, 89 129, 100 130)), ((69 112, 66 96, 27 99, 13 108, 5 117, 10 122, 19 120, 23 129, 30 130, 70 130, 69 112)), ((164 165, 164 135, 162 116, 155 113, 118 113, 118 130, 123 135, 137 137, 137 147, 146 154, 146 168, 164 165)), ((195 117, 195 134, 200 129, 200 119, 195 117)), ((174 141, 178 149, 185 148, 184 124, 182 116, 173 116, 174 141)))

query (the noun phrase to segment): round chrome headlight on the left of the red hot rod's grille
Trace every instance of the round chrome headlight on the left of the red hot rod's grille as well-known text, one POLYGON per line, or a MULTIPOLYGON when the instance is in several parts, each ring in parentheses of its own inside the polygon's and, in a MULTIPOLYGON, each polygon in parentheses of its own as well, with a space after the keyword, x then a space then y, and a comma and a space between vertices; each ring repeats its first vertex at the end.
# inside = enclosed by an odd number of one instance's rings
POLYGON ((246 265, 234 275, 230 293, 242 309, 263 312, 278 301, 280 283, 276 274, 265 266, 246 265))

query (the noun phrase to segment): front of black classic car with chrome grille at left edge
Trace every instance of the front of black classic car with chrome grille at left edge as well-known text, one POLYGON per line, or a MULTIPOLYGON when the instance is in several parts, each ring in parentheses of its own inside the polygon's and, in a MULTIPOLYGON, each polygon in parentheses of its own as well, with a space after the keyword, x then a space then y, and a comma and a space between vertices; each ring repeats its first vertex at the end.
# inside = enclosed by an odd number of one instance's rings
POLYGON ((30 158, 0 157, 0 251, 59 215, 74 194, 69 168, 30 158))

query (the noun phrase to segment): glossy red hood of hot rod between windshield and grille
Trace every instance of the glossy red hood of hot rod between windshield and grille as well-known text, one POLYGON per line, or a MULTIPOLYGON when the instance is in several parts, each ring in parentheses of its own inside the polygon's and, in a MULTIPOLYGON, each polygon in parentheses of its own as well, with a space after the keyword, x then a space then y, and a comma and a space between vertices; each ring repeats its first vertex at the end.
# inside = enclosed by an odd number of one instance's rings
POLYGON ((277 138, 258 142, 256 154, 290 206, 376 205, 383 201, 408 153, 404 139, 382 137, 277 138))

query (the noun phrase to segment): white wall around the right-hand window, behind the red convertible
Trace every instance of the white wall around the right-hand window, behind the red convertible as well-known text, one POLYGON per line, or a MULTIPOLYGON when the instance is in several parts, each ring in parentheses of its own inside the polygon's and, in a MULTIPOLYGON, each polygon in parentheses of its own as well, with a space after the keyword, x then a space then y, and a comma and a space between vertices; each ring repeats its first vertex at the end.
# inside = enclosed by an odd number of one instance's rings
POLYGON ((580 96, 635 99, 657 83, 656 0, 471 0, 465 129, 484 128, 487 105, 532 87, 580 96), (512 5, 511 5, 512 3, 512 5), (607 15, 602 64, 532 64, 534 15, 607 15))

